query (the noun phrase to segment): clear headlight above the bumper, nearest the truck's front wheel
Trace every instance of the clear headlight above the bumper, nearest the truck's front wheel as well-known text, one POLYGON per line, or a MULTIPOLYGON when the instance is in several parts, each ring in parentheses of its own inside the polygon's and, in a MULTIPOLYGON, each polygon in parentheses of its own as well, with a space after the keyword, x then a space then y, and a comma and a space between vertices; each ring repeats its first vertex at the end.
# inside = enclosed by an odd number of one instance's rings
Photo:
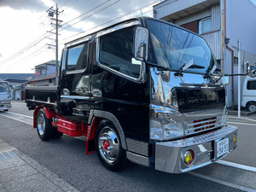
POLYGON ((184 136, 183 123, 175 122, 170 115, 165 110, 152 109, 150 139, 163 141, 184 136))

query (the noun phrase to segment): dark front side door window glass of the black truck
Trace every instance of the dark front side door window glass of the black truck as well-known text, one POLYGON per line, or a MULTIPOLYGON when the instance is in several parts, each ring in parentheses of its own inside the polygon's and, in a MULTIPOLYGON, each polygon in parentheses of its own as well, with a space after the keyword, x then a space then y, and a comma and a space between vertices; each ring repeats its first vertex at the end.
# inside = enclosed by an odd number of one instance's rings
POLYGON ((100 38, 99 62, 102 67, 139 79, 142 62, 134 58, 133 35, 134 27, 128 27, 100 38))

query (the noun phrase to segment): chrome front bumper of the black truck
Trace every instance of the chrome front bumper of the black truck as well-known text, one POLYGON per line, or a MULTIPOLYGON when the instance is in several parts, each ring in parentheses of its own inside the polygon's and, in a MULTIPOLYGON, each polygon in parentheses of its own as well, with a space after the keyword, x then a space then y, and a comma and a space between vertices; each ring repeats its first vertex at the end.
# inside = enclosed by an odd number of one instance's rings
POLYGON ((155 144, 154 168, 161 172, 181 173, 207 166, 216 160, 223 159, 236 148, 237 144, 233 141, 235 133, 237 136, 237 128, 227 125, 218 131, 201 136, 172 142, 158 142, 155 144), (216 142, 224 138, 229 138, 229 151, 217 159, 216 142), (183 162, 183 156, 189 149, 195 151, 195 160, 192 165, 187 166, 183 162))

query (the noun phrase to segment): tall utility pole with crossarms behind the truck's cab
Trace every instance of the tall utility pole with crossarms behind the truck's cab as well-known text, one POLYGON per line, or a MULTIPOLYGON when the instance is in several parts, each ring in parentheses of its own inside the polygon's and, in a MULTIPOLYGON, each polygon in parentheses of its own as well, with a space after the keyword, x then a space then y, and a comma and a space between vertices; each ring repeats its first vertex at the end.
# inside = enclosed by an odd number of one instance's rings
MULTIPOLYGON (((50 19, 51 20, 54 20, 55 21, 55 35, 56 35, 56 38, 55 38, 55 45, 51 45, 50 46, 55 46, 55 55, 56 55, 56 63, 55 63, 55 85, 58 84, 58 71, 59 71, 59 61, 58 61, 58 58, 59 58, 59 47, 58 47, 58 38, 59 38, 59 26, 60 26, 60 23, 63 21, 63 20, 59 20, 59 15, 63 12, 63 10, 60 12, 59 11, 59 8, 58 8, 58 4, 56 3, 56 9, 53 9, 53 7, 51 7, 50 9, 48 9, 46 12, 48 12, 48 16, 51 17, 50 19), (55 16, 55 18, 54 18, 55 16)), ((52 22, 51 23, 52 25, 54 25, 54 23, 52 22)), ((50 33, 54 33, 54 32, 50 32, 50 33)))

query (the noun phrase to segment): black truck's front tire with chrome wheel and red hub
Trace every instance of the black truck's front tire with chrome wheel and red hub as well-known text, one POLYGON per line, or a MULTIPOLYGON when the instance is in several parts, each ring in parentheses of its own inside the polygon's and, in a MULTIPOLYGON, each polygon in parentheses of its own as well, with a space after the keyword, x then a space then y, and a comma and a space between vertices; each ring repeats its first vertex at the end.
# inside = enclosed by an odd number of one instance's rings
POLYGON ((122 171, 127 164, 127 159, 113 124, 103 120, 96 130, 95 141, 96 154, 102 165, 112 172, 122 171))

